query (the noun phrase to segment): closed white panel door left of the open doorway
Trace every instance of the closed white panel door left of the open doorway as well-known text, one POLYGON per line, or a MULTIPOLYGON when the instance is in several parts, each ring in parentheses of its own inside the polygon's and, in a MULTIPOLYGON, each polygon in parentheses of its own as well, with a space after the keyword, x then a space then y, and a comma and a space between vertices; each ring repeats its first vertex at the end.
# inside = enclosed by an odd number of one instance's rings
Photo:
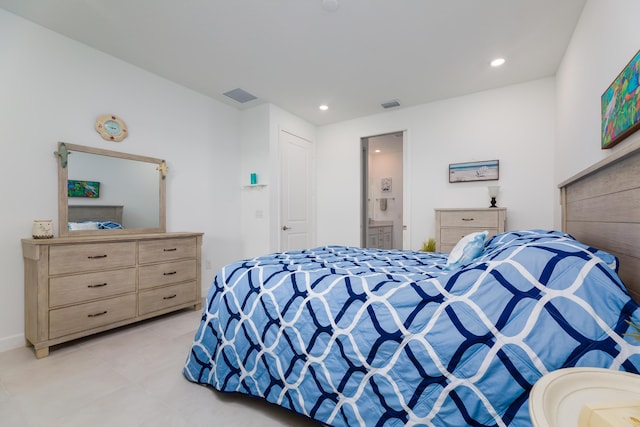
POLYGON ((280 249, 312 245, 311 142, 280 131, 280 249))

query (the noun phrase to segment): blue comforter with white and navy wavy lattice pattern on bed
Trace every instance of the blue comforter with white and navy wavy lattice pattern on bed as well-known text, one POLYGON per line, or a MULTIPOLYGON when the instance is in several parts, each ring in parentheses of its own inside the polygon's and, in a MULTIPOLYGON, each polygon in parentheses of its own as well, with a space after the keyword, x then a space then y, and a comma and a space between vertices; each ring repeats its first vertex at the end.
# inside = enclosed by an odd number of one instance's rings
POLYGON ((329 246, 230 264, 184 375, 332 426, 526 426, 545 373, 640 370, 623 335, 640 310, 612 255, 520 231, 460 269, 445 262, 329 246))

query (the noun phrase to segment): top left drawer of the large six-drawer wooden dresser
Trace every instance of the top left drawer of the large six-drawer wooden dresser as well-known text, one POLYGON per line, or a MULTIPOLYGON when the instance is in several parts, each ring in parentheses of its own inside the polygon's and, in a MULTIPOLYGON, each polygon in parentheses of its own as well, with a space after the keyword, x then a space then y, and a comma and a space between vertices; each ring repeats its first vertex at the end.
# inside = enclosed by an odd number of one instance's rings
POLYGON ((136 265, 136 243, 98 243, 52 246, 49 274, 67 274, 136 265))

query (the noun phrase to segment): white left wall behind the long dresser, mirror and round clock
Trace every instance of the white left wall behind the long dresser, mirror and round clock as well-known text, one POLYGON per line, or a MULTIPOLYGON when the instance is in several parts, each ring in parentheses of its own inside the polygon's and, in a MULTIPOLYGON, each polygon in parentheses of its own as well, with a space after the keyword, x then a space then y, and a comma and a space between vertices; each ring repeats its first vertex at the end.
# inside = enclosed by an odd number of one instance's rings
POLYGON ((0 61, 0 351, 24 344, 20 239, 57 225, 58 141, 167 160, 167 229, 205 233, 204 289, 240 257, 238 111, 2 10, 0 61), (100 138, 104 113, 127 139, 100 138))

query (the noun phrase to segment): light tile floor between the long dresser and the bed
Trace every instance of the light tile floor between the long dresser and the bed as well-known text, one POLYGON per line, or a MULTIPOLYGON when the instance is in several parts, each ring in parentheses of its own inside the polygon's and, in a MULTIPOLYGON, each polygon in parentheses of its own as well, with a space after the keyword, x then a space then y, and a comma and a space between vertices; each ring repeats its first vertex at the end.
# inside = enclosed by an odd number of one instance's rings
POLYGON ((317 427, 275 405, 187 381, 182 367, 200 312, 53 347, 0 353, 0 426, 317 427))

